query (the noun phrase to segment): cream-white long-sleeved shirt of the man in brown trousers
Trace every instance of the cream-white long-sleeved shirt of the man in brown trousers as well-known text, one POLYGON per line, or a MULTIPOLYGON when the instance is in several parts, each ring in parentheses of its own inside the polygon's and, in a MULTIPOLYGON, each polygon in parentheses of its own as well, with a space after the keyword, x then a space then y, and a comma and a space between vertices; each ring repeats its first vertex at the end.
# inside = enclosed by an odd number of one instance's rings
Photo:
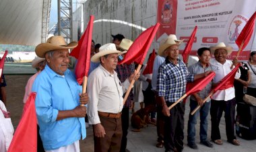
POLYGON ((88 77, 88 120, 89 124, 100 123, 99 112, 117 114, 123 109, 123 92, 130 83, 126 79, 123 84, 117 73, 111 75, 102 65, 97 67, 88 77))

